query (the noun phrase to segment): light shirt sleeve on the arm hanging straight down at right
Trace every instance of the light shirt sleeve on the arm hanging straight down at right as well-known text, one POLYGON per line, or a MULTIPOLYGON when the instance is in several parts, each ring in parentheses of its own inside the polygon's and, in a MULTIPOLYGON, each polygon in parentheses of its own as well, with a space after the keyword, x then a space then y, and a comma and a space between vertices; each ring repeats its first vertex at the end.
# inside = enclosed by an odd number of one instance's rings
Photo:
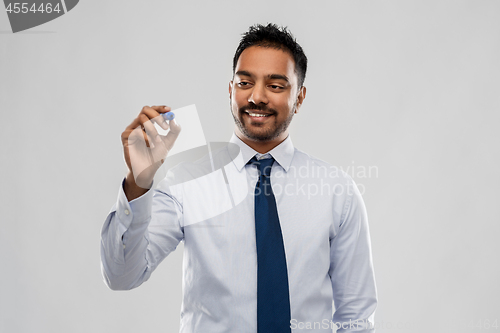
POLYGON ((366 208, 349 180, 340 226, 330 242, 330 277, 338 333, 375 332, 377 291, 366 208))

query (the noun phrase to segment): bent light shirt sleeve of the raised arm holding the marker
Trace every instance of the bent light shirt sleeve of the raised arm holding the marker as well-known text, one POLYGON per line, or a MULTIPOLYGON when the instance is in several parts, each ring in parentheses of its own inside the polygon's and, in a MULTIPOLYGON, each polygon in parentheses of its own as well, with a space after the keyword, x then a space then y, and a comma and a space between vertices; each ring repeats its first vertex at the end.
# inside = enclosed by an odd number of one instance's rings
POLYGON ((101 270, 112 290, 147 281, 183 239, 182 206, 167 191, 149 190, 128 202, 123 183, 101 231, 101 270))

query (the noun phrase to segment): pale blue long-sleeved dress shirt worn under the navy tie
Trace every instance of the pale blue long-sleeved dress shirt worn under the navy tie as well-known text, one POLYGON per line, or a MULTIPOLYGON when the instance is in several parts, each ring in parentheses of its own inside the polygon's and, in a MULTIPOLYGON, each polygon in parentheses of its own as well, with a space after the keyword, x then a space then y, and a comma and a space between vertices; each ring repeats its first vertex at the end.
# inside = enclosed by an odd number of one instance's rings
MULTIPOLYGON (((172 181, 127 201, 120 187, 101 241, 102 272, 113 290, 136 288, 184 241, 181 333, 257 331, 256 154, 233 134, 227 149, 174 171, 172 181)), ((292 332, 374 332, 377 306, 365 205, 340 169, 294 148, 290 137, 269 152, 290 286, 292 332), (334 302, 334 304, 333 304, 334 302)), ((260 154, 258 155, 260 156, 260 154)))

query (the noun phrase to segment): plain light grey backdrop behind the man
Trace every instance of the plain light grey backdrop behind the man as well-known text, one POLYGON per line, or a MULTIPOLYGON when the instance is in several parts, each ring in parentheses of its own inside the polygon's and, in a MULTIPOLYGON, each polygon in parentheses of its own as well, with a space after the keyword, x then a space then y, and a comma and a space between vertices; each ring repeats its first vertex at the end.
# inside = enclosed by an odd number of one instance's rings
POLYGON ((257 22, 289 26, 309 57, 296 147, 378 170, 355 177, 378 332, 500 330, 485 328, 500 319, 499 10, 82 1, 19 34, 0 11, 0 331, 178 331, 182 246, 139 289, 102 281, 100 229, 125 174, 120 133, 144 105, 194 103, 208 140, 228 140, 231 60, 257 22))

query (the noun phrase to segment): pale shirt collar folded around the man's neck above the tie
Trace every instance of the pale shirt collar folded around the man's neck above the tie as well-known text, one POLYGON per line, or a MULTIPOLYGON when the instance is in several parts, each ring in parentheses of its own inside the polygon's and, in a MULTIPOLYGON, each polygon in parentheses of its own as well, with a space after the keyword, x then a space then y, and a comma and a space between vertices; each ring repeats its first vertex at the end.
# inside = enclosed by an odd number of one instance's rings
MULTIPOLYGON (((250 161, 250 159, 257 154, 257 151, 241 141, 235 133, 233 133, 229 142, 237 144, 240 147, 240 154, 233 160, 233 163, 238 171, 241 171, 248 161, 250 161)), ((278 162, 278 164, 281 165, 286 172, 288 172, 290 164, 292 163, 294 151, 295 148, 293 147, 292 139, 290 138, 290 135, 288 135, 282 143, 267 153, 269 153, 274 160, 278 162)))

